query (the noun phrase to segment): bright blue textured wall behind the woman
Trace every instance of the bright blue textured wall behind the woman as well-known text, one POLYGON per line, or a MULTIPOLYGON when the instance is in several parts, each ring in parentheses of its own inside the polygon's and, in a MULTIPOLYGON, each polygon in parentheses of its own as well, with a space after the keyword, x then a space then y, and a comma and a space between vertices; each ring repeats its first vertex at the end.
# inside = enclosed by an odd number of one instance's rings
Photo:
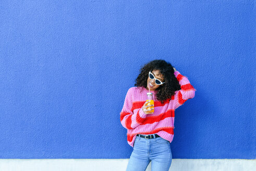
POLYGON ((256 158, 253 1, 4 1, 0 158, 129 158, 119 113, 165 59, 197 89, 174 158, 256 158))

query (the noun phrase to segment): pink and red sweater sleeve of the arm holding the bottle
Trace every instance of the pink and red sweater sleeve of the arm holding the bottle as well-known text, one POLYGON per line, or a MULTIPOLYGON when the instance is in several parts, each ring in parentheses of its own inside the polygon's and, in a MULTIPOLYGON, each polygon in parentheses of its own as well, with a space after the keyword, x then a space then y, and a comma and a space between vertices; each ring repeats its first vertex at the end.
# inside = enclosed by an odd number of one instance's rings
POLYGON ((121 124, 126 129, 134 129, 145 120, 146 116, 147 114, 145 114, 141 108, 137 113, 133 113, 132 88, 130 88, 126 94, 125 103, 120 113, 121 124))

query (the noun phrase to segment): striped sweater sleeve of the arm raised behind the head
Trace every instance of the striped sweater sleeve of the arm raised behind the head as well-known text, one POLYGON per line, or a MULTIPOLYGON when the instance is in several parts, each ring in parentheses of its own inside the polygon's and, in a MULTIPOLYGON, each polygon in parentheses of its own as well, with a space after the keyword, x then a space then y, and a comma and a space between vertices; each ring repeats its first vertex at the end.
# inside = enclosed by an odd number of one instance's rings
POLYGON ((181 90, 177 90, 174 95, 174 109, 184 104, 188 99, 194 97, 196 89, 190 84, 187 77, 182 76, 179 71, 174 72, 175 77, 179 81, 181 90))

